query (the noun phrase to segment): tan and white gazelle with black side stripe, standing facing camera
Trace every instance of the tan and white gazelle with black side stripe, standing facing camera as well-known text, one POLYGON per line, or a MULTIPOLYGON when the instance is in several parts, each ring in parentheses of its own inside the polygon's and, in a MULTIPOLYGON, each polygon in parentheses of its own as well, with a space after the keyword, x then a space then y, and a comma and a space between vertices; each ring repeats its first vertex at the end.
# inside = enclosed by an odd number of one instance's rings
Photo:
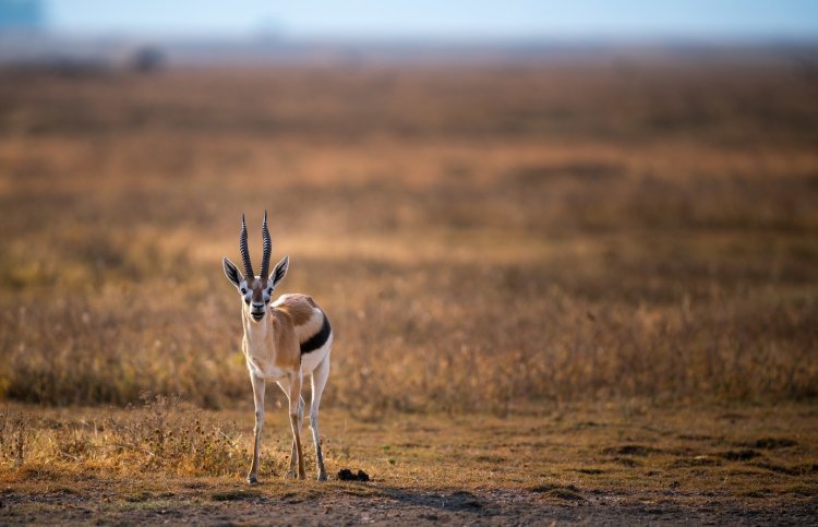
POLYGON ((301 423, 304 417, 304 399, 301 397, 301 381, 304 375, 312 378, 312 403, 310 405, 310 427, 315 443, 315 458, 318 480, 326 480, 324 456, 318 438, 318 406, 329 376, 329 351, 333 347, 333 331, 329 319, 306 295, 281 295, 270 303, 273 290, 284 279, 289 257, 284 256, 273 273, 269 272, 269 253, 273 243, 267 229, 267 212, 262 225, 264 253, 261 274, 253 273, 248 250, 248 227, 241 216, 239 248, 244 264, 242 276, 238 267, 228 260, 221 261, 225 275, 241 295, 241 321, 244 326, 242 350, 250 370, 255 402, 255 443, 253 464, 248 474, 248 482, 258 481, 258 456, 264 423, 264 384, 275 381, 289 400, 290 426, 292 427, 292 454, 289 476, 304 479, 304 458, 301 452, 301 423))

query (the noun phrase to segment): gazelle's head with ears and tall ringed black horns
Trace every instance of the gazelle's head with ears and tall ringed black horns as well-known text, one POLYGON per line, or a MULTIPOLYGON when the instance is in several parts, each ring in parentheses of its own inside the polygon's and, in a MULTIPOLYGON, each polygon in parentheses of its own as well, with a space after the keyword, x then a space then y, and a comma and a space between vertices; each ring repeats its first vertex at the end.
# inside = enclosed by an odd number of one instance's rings
POLYGON ((225 275, 236 286, 242 299, 242 313, 252 322, 260 322, 267 312, 267 304, 273 298, 273 290, 287 274, 289 257, 281 259, 273 273, 269 273, 269 253, 273 251, 273 242, 267 229, 267 211, 264 211, 264 224, 262 225, 262 237, 264 238, 264 253, 262 255, 262 271, 260 275, 253 273, 250 263, 250 251, 248 250, 248 226, 244 215, 241 215, 241 233, 239 235, 239 248, 241 249, 241 261, 244 264, 244 275, 227 256, 221 260, 225 275), (269 276, 267 275, 269 273, 269 276))

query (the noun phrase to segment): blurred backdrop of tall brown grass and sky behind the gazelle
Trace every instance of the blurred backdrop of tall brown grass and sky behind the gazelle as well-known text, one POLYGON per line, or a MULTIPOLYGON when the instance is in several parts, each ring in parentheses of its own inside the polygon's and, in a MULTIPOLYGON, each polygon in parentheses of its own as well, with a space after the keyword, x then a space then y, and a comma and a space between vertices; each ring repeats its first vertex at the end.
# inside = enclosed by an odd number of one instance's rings
POLYGON ((817 101, 808 1, 0 0, 0 397, 249 405, 266 208, 327 405, 814 398, 817 101))

